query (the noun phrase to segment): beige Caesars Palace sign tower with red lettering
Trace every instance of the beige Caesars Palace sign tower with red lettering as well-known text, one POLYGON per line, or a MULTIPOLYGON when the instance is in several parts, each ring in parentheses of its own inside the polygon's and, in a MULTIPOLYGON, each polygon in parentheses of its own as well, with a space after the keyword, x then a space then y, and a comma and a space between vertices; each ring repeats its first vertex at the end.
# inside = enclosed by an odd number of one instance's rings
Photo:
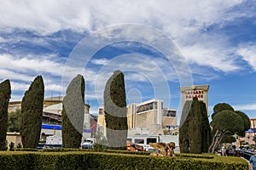
POLYGON ((189 87, 180 87, 180 91, 182 94, 182 107, 184 106, 185 102, 187 100, 192 100, 193 98, 197 98, 201 101, 203 101, 207 105, 207 113, 209 116, 208 112, 208 89, 209 85, 192 85, 189 87))

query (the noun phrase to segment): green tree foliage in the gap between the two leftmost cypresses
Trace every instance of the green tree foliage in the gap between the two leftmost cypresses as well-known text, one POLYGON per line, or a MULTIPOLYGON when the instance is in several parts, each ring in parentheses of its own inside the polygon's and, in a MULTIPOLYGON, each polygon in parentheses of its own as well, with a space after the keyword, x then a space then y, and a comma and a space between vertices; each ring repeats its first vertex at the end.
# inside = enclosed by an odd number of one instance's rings
POLYGON ((8 132, 20 132, 19 129, 19 116, 21 111, 16 110, 8 114, 8 132))

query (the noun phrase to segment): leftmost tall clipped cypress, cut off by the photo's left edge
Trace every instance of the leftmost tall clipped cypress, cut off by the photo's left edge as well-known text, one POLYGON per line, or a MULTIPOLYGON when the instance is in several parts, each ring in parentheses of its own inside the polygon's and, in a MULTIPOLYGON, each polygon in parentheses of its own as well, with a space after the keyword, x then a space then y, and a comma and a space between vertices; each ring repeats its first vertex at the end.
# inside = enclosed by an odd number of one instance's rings
POLYGON ((11 95, 9 80, 0 83, 0 150, 6 150, 6 133, 8 127, 8 105, 11 95))

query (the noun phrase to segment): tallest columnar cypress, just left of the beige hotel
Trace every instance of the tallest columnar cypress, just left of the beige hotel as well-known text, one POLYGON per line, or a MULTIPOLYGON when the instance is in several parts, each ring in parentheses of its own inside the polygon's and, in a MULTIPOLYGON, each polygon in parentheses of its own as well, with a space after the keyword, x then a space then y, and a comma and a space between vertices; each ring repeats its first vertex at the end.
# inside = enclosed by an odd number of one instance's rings
POLYGON ((104 111, 108 148, 126 150, 127 115, 125 80, 121 71, 114 71, 104 90, 104 111))

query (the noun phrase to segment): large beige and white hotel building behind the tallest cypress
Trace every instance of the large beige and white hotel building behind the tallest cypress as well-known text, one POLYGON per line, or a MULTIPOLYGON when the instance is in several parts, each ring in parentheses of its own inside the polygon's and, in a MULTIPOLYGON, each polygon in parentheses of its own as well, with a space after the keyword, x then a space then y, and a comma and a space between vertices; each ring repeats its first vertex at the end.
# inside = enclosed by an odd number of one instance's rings
MULTIPOLYGON (((149 99, 139 104, 127 105, 128 135, 164 134, 166 129, 177 129, 177 110, 163 108, 162 99, 149 99)), ((99 108, 98 127, 106 136, 106 122, 103 107, 99 108)))

